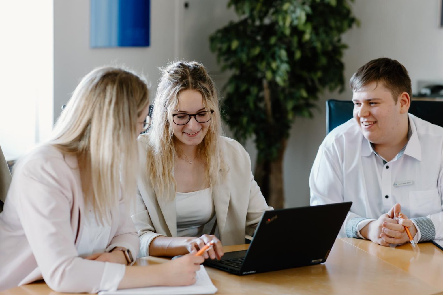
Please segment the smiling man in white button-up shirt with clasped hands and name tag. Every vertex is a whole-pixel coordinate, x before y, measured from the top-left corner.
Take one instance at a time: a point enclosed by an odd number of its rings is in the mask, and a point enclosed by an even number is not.
[[[350,87],[354,118],[319,147],[311,205],[353,202],[341,237],[400,244],[407,226],[415,242],[442,239],[443,128],[408,114],[411,79],[398,61],[369,61]]]

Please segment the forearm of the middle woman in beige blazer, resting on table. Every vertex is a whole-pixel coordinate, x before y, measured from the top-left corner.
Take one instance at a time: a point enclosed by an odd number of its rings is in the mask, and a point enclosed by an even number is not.
[[[150,256],[176,256],[189,253],[186,245],[192,237],[164,237],[159,236],[149,245]]]

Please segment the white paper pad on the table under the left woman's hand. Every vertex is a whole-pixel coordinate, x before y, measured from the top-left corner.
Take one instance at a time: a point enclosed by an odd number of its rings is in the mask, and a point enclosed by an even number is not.
[[[194,295],[214,294],[218,291],[214,284],[212,284],[203,265],[200,265],[200,270],[196,272],[195,278],[197,281],[190,286],[120,289],[117,291],[100,291],[98,295]]]

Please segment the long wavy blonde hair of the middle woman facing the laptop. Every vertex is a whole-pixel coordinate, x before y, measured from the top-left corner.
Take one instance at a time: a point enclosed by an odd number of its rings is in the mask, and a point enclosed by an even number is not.
[[[175,159],[181,150],[174,144],[172,115],[178,109],[180,92],[196,90],[203,96],[206,110],[214,110],[209,128],[198,145],[198,157],[206,164],[205,180],[214,188],[225,177],[227,166],[223,160],[221,116],[218,94],[206,68],[195,61],[177,61],[160,69],[161,78],[153,103],[152,125],[139,140],[148,144],[146,176],[156,191],[160,202],[175,199]]]

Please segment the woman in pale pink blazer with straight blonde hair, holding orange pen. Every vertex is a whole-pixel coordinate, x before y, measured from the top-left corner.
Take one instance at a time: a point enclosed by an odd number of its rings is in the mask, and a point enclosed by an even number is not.
[[[134,73],[102,67],[82,79],[51,141],[14,169],[0,213],[0,290],[41,279],[62,292],[195,282],[204,259],[194,255],[128,267],[140,242],[125,201],[148,104]]]

